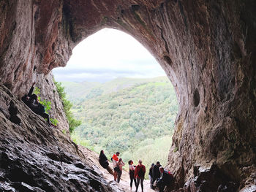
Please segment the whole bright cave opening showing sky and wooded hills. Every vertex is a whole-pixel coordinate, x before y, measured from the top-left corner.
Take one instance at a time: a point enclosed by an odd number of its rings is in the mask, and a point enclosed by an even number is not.
[[[145,47],[124,32],[104,28],[80,42],[63,69],[53,69],[82,121],[72,133],[80,145],[127,163],[167,165],[178,112],[176,93]],[[148,174],[146,174],[148,175]]]

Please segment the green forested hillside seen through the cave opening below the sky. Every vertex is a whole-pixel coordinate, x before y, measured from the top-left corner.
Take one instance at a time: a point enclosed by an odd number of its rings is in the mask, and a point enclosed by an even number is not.
[[[178,111],[176,94],[167,77],[118,78],[97,82],[63,82],[73,102],[72,112],[82,120],[72,133],[75,142],[110,158],[121,152],[125,162],[165,166]]]

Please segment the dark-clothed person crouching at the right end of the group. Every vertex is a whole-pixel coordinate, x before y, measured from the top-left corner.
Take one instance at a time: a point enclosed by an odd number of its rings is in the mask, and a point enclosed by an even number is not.
[[[165,186],[170,185],[173,180],[173,174],[165,171],[164,167],[159,167],[160,178],[157,179],[157,188],[159,188],[159,192],[163,192],[165,190]]]

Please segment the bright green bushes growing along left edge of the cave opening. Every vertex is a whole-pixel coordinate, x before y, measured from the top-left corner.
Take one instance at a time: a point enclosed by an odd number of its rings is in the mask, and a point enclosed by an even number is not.
[[[56,85],[57,91],[59,93],[59,97],[62,101],[64,112],[67,116],[67,121],[69,122],[69,132],[72,133],[74,129],[80,126],[81,121],[76,120],[74,115],[71,112],[72,103],[66,99],[66,93],[64,92],[64,86],[61,85],[61,82],[56,82],[53,80],[54,84]]]

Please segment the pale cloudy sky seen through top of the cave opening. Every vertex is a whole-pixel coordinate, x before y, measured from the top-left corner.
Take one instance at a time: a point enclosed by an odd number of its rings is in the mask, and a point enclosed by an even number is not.
[[[80,42],[67,66],[53,69],[59,82],[107,82],[117,77],[165,76],[151,53],[129,34],[103,28]]]

